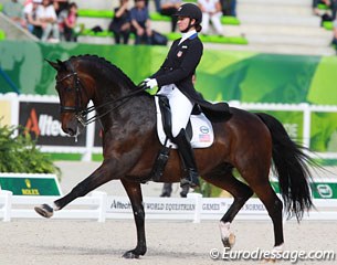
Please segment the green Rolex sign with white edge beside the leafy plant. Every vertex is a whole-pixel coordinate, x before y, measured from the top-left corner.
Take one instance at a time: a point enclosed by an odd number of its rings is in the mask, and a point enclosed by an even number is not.
[[[0,188],[13,195],[62,195],[55,174],[0,173]]]

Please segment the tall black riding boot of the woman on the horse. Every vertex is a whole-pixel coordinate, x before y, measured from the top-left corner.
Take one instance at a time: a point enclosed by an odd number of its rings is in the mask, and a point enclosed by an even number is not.
[[[175,144],[178,146],[178,151],[183,165],[185,177],[180,180],[180,187],[196,188],[200,186],[199,174],[197,170],[194,152],[191,147],[185,129],[175,138]]]

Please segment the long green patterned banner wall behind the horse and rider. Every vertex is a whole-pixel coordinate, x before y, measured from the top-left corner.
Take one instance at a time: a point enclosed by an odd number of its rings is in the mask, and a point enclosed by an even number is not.
[[[0,42],[2,70],[22,94],[40,95],[56,95],[55,70],[44,59],[65,61],[73,55],[95,54],[138,84],[158,71],[167,52],[166,46]],[[333,96],[336,71],[336,56],[204,50],[196,86],[209,100],[337,105]],[[11,91],[3,78],[0,87],[1,93]]]

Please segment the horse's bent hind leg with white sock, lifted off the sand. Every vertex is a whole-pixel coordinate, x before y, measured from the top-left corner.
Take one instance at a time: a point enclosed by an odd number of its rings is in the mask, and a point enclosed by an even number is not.
[[[224,171],[227,171],[224,173]],[[221,241],[224,247],[232,247],[235,242],[235,236],[230,231],[230,225],[234,220],[235,215],[240,211],[240,209],[244,205],[244,203],[253,195],[253,191],[250,187],[239,181],[233,174],[232,169],[228,170],[227,168],[223,171],[217,171],[209,173],[204,177],[204,179],[230,192],[234,201],[227,213],[220,220],[220,233]]]

